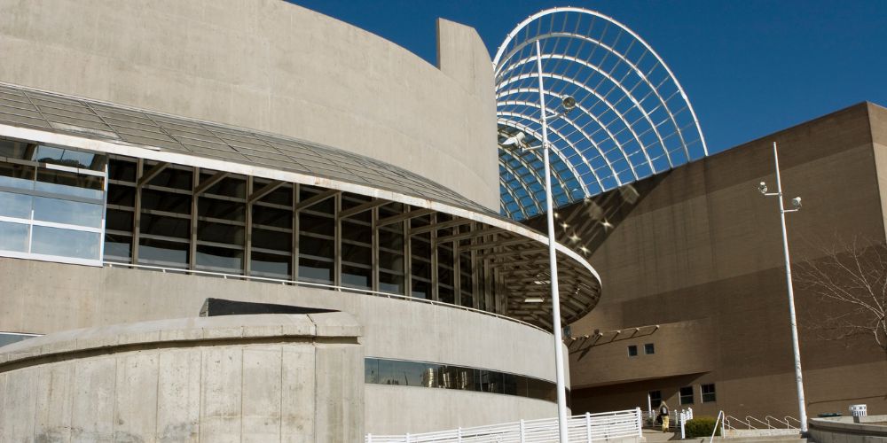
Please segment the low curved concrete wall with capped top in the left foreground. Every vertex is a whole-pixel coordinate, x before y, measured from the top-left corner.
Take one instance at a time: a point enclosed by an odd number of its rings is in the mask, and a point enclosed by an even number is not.
[[[4,347],[0,441],[361,441],[347,314],[71,330]]]

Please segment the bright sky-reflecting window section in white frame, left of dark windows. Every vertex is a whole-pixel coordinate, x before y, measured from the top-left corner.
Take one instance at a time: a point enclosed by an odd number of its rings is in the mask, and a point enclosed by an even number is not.
[[[0,255],[101,264],[106,157],[0,139]]]

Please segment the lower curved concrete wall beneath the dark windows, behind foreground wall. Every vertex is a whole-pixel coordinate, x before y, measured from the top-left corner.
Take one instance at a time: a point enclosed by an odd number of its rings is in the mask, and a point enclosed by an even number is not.
[[[38,280],[41,284],[35,284]],[[457,308],[282,284],[34,260],[0,259],[0,281],[6,288],[0,293],[0,330],[51,333],[188,317],[197,315],[208,297],[239,299],[327,307],[354,315],[364,328],[360,341],[367,357],[555,379],[551,334]],[[556,404],[543,400],[410,386],[367,385],[366,404],[365,430],[373,433],[436,431],[557,414]]]

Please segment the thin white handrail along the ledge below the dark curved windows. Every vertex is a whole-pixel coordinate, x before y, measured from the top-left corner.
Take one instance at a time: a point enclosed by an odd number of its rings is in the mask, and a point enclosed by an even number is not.
[[[443,301],[436,301],[436,300],[429,300],[429,299],[417,299],[415,297],[410,297],[410,296],[407,296],[404,294],[395,294],[395,293],[391,293],[391,292],[372,291],[369,289],[352,288],[349,286],[341,286],[341,285],[335,285],[335,284],[302,282],[302,281],[298,281],[298,280],[284,280],[281,278],[271,278],[271,277],[263,277],[263,276],[246,276],[246,275],[242,275],[242,274],[226,274],[224,272],[203,271],[200,269],[169,268],[169,267],[162,267],[162,266],[139,265],[139,264],[135,264],[135,263],[122,263],[119,261],[102,261],[102,264],[108,268],[153,269],[153,270],[159,270],[163,273],[170,272],[170,273],[175,273],[175,274],[186,274],[186,275],[192,274],[192,275],[197,275],[197,276],[217,276],[217,277],[222,277],[224,279],[231,278],[234,280],[246,280],[246,281],[256,281],[256,282],[265,282],[265,283],[274,283],[274,284],[290,284],[293,286],[308,286],[308,287],[315,287],[315,288],[322,288],[322,289],[330,289],[330,290],[340,291],[340,292],[341,291],[359,292],[359,293],[364,293],[367,295],[374,295],[376,297],[385,297],[387,299],[404,299],[407,301],[428,303],[428,304],[434,305],[434,306],[454,307],[456,309],[461,309],[463,311],[469,311],[469,312],[474,312],[474,313],[483,314],[483,315],[491,315],[493,317],[496,317],[496,318],[499,318],[502,320],[507,320],[509,322],[520,323],[524,326],[530,326],[530,328],[546,332],[547,334],[551,333],[547,330],[544,330],[544,329],[538,327],[535,324],[527,323],[522,320],[518,320],[516,318],[508,317],[506,315],[500,315],[500,314],[492,313],[489,311],[484,311],[482,309],[476,309],[474,307],[464,307],[464,306],[459,306],[459,305],[453,305],[451,303],[446,303]]]

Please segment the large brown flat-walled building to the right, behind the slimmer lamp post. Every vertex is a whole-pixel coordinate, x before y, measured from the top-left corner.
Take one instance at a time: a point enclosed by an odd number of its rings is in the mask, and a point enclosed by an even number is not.
[[[561,210],[564,237],[582,237],[607,276],[600,305],[571,325],[574,413],[646,409],[659,392],[697,414],[797,417],[778,204],[757,191],[775,188],[773,142],[787,204],[804,197],[787,214],[793,262],[836,238],[884,243],[887,109],[870,103]],[[808,415],[887,412],[883,351],[824,341],[811,313],[829,307],[796,293]]]

